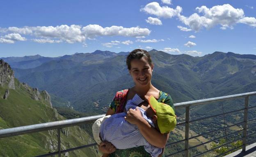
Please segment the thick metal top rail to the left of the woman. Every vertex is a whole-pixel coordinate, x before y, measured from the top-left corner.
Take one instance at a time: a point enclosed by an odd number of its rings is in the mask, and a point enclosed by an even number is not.
[[[62,121],[56,121],[56,122],[48,122],[48,123],[34,124],[29,126],[20,126],[16,128],[2,129],[0,130],[0,138],[22,135],[26,133],[35,133],[39,131],[51,130],[56,128],[65,128],[69,126],[81,125],[87,122],[94,121],[104,116],[105,115],[95,115],[90,117],[82,117],[82,118],[68,119],[68,120],[62,120]]]

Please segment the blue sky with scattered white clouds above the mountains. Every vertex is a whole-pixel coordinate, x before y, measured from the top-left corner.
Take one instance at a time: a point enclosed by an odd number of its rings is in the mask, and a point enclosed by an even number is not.
[[[256,55],[256,1],[0,1],[0,57],[138,48]]]

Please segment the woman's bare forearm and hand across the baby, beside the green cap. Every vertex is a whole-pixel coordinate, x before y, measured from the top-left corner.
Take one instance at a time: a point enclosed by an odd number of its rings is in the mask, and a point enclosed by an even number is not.
[[[130,109],[127,112],[126,121],[138,126],[144,138],[153,146],[164,148],[169,138],[169,133],[161,134],[152,127],[141,115],[139,108]]]

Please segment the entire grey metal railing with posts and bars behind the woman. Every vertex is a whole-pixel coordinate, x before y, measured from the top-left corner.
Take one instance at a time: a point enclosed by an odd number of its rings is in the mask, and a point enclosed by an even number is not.
[[[240,139],[242,139],[242,151],[245,151],[246,144],[256,141],[255,139],[252,140],[251,142],[246,141],[246,137],[250,136],[250,135],[247,135],[247,122],[256,119],[256,117],[255,117],[253,119],[247,120],[248,109],[256,107],[256,106],[248,107],[249,96],[252,96],[252,95],[256,95],[256,92],[228,95],[228,96],[222,96],[222,97],[214,97],[214,98],[209,98],[209,99],[195,100],[195,101],[190,101],[190,102],[181,102],[181,103],[174,104],[175,108],[185,107],[185,122],[180,122],[180,123],[177,124],[177,126],[185,124],[185,139],[173,142],[171,144],[167,144],[166,146],[170,146],[172,144],[177,144],[179,142],[185,142],[185,149],[184,150],[179,150],[178,152],[172,153],[170,155],[166,155],[166,157],[169,157],[169,156],[172,156],[172,155],[175,155],[175,154],[178,154],[178,153],[183,153],[183,152],[185,153],[185,157],[188,157],[189,156],[189,150],[191,150],[192,148],[207,144],[209,142],[216,141],[217,139],[227,137],[229,135],[238,133],[240,131],[243,131],[243,134],[242,134],[243,136],[241,138],[235,139],[231,142],[227,142],[225,144],[222,144],[221,146],[217,146],[217,147],[212,148],[210,150],[206,150],[205,152],[194,155],[193,157],[208,153],[212,150],[215,150],[217,148],[220,148],[220,147],[222,147],[224,145],[227,145],[227,144],[230,144],[232,142],[238,141]],[[218,114],[218,115],[213,115],[213,116],[209,116],[209,117],[203,117],[203,118],[196,119],[196,120],[190,120],[190,107],[191,106],[201,105],[201,104],[208,104],[208,103],[219,102],[219,101],[224,101],[224,100],[232,100],[232,99],[236,99],[236,98],[245,98],[245,108],[242,108],[242,109],[239,109],[239,110],[236,110],[236,111],[230,111],[230,112],[227,112],[227,113]],[[233,124],[233,125],[230,125],[230,126],[224,126],[223,128],[219,128],[217,130],[212,130],[212,131],[209,131],[207,133],[203,133],[203,134],[199,134],[199,135],[196,135],[196,136],[189,137],[189,124],[191,122],[196,122],[196,121],[199,121],[199,120],[202,120],[202,119],[217,117],[219,115],[225,115],[225,114],[229,114],[229,113],[233,113],[233,112],[237,112],[237,111],[242,111],[242,110],[244,110],[243,122]],[[16,127],[16,128],[2,129],[2,130],[0,130],[0,138],[11,137],[11,136],[16,136],[16,135],[23,135],[23,134],[26,134],[26,133],[36,133],[36,132],[45,131],[45,130],[57,129],[58,151],[53,152],[53,153],[44,154],[44,155],[39,155],[37,157],[46,157],[46,156],[50,156],[50,155],[58,155],[59,157],[61,157],[62,153],[66,153],[66,152],[69,152],[69,151],[78,150],[78,149],[81,149],[81,148],[91,147],[91,146],[96,145],[96,143],[94,143],[94,144],[87,144],[87,145],[84,145],[84,146],[79,146],[79,147],[70,148],[70,149],[66,149],[66,150],[61,150],[61,147],[60,147],[60,144],[61,144],[61,142],[60,142],[60,138],[61,138],[60,137],[60,129],[61,128],[65,128],[65,127],[69,127],[69,126],[78,126],[78,125],[86,124],[88,122],[94,122],[96,119],[101,118],[103,116],[104,115],[96,115],[96,116],[90,116],[90,117],[82,117],[82,118],[76,118],[76,119],[62,120],[62,121],[57,121],[57,122],[48,122],[48,123],[34,124],[34,125],[29,125],[29,126],[21,126],[21,127]],[[201,144],[196,145],[196,146],[189,147],[189,140],[190,139],[194,139],[194,138],[197,138],[197,137],[209,134],[209,133],[216,132],[218,130],[223,130],[223,129],[226,129],[226,128],[229,128],[229,127],[232,127],[232,126],[236,126],[238,124],[243,124],[243,129],[242,130],[236,131],[236,132],[231,133],[229,135],[224,135],[222,137],[218,137],[216,139],[212,139],[208,142],[204,142],[204,143],[201,143]],[[253,135],[253,134],[255,134],[255,133],[252,133],[251,135]],[[241,147],[241,146],[238,146],[237,148],[239,148],[239,147]],[[217,155],[216,157],[222,156],[225,153],[230,152],[232,150],[235,150],[237,148],[233,148],[231,150],[228,150],[228,151],[226,151],[226,152],[224,152],[220,155]]]

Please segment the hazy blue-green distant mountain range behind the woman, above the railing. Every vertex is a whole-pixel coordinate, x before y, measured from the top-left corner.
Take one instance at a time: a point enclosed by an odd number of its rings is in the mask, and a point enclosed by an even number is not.
[[[192,57],[170,55],[154,49],[149,52],[155,65],[152,83],[169,93],[174,102],[256,89],[256,55],[214,52],[203,57]],[[52,94],[53,105],[69,101],[76,110],[105,113],[116,91],[133,86],[126,68],[127,54],[97,50],[94,53],[46,57],[48,61],[44,60],[37,67],[14,68],[14,71],[22,82]],[[20,62],[12,60],[10,64],[15,63],[16,66],[26,61],[29,65],[42,57],[35,58],[19,58]],[[8,58],[9,61],[11,59]],[[55,101],[55,96],[61,99]]]

